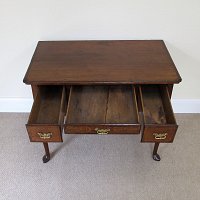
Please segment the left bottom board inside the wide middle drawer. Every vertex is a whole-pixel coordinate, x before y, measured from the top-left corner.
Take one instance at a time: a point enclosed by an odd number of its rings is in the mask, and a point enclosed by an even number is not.
[[[72,87],[67,123],[105,123],[107,99],[107,86]]]

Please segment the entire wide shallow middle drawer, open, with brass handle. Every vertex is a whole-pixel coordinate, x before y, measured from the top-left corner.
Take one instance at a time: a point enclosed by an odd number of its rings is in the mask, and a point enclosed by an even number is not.
[[[139,134],[135,88],[72,86],[64,128],[72,134]]]

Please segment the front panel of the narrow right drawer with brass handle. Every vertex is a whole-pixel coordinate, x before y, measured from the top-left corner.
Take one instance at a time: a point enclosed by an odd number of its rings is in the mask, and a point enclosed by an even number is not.
[[[177,128],[177,125],[145,125],[142,142],[173,142]]]

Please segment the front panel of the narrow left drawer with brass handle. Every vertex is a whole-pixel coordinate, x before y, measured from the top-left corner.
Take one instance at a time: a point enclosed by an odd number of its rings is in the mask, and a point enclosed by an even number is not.
[[[31,142],[62,142],[60,126],[26,125]]]

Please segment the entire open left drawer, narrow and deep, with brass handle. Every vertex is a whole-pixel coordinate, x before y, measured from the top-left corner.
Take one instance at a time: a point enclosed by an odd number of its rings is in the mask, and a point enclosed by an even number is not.
[[[39,86],[26,128],[31,142],[62,142],[65,87]]]

